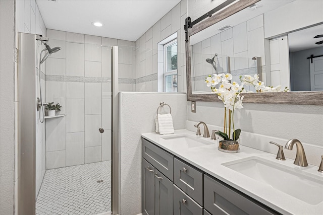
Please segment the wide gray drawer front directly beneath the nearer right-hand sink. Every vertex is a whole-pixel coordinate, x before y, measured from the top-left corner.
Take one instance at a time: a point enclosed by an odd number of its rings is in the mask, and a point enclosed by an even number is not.
[[[212,214],[279,214],[207,175],[204,175],[204,207]]]

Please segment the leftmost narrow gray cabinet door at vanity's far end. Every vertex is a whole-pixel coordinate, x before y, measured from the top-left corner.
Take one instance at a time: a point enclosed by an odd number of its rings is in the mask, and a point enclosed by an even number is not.
[[[141,159],[141,205],[142,214],[155,214],[155,168],[145,159]]]

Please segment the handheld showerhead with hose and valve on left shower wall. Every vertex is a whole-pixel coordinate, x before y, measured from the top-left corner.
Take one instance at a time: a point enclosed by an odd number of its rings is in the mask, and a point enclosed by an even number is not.
[[[39,39],[41,40],[41,39]],[[42,95],[41,95],[41,81],[40,81],[40,65],[41,63],[43,63],[47,57],[49,55],[51,55],[52,53],[55,53],[55,52],[58,52],[59,50],[61,50],[61,47],[54,47],[54,48],[50,48],[49,45],[47,45],[45,42],[44,42],[44,45],[46,48],[44,48],[40,54],[39,54],[39,64],[38,64],[38,80],[39,80],[39,97],[37,98],[37,111],[39,111],[39,121],[41,123],[44,122],[44,118],[45,118],[45,112],[44,112],[44,105],[47,105],[47,103],[44,103],[42,101]],[[47,51],[45,53],[45,55],[41,58],[41,54],[43,51]],[[41,117],[42,116],[42,117]]]

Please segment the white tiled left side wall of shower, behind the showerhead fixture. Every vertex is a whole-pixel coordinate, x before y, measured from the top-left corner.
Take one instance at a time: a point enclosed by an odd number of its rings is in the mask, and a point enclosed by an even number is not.
[[[36,4],[35,0],[19,0],[16,2],[16,41],[18,41],[18,32],[23,33],[31,33],[31,34],[39,34],[46,36],[46,27],[42,20],[42,17],[40,15],[38,6]],[[16,42],[16,46],[17,46]],[[38,67],[38,60],[39,60],[39,54],[40,51],[44,49],[44,46],[41,45],[41,42],[37,42],[36,47],[36,62],[35,62],[35,69],[37,71]],[[46,95],[46,88],[45,88],[45,80],[44,80],[44,74],[46,74],[44,63],[42,64],[41,71],[43,75],[41,76],[41,85],[42,85],[42,95],[43,99],[45,101],[45,95]],[[18,71],[15,71],[16,73],[16,92],[18,89],[18,83],[17,83],[17,73]],[[37,86],[37,95],[36,97],[39,97],[39,81],[36,80]],[[16,96],[17,97],[17,96]],[[16,109],[18,107],[18,99],[16,98]],[[36,111],[36,110],[35,110]],[[16,117],[17,116],[16,112]],[[38,191],[40,189],[40,185],[42,182],[42,179],[45,174],[45,122],[40,123],[39,122],[39,113],[37,112],[37,118],[36,118],[36,196],[38,194]],[[18,127],[16,126],[16,133]],[[18,139],[18,138],[16,138]],[[18,150],[18,142],[16,141],[16,150]],[[16,151],[18,153],[18,151]],[[16,154],[17,155],[17,154]],[[16,159],[18,156],[16,156]],[[16,170],[18,171],[18,162],[16,162]],[[18,172],[16,171],[16,176],[18,177]]]

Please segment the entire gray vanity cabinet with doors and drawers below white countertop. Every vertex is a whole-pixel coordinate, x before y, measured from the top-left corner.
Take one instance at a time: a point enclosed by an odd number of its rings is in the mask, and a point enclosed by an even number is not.
[[[142,214],[280,214],[174,157],[142,138]]]

